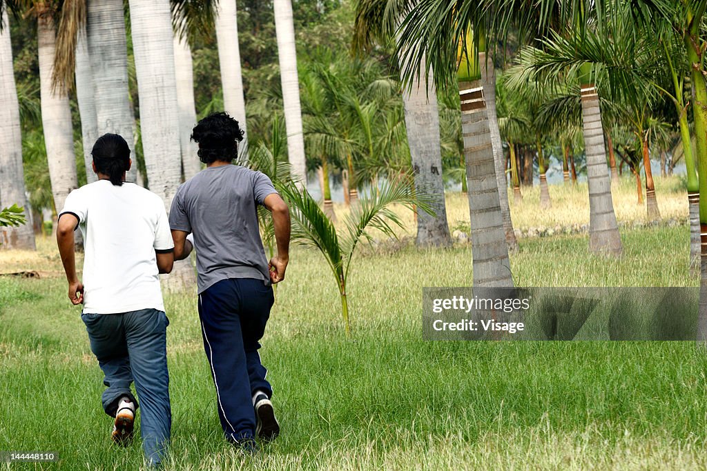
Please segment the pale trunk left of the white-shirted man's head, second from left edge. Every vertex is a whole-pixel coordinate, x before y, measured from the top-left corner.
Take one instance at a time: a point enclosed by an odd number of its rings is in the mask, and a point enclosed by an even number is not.
[[[57,213],[64,208],[66,196],[78,187],[74,156],[74,131],[71,129],[71,107],[66,93],[52,90],[52,71],[56,50],[54,19],[48,12],[37,16],[37,48],[40,66],[40,94],[42,97],[42,126],[44,128],[49,179]]]

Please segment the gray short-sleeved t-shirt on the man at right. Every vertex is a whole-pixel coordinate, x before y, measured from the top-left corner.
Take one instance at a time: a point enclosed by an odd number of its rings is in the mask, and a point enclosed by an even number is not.
[[[207,167],[179,187],[170,227],[194,234],[199,294],[226,278],[269,285],[257,205],[271,193],[275,187],[265,174],[237,165]]]

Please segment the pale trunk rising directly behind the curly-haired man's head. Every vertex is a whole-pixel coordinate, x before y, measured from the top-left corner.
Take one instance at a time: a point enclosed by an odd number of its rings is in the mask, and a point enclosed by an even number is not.
[[[243,92],[243,74],[240,68],[238,16],[236,13],[235,0],[221,0],[218,2],[216,43],[218,44],[218,65],[221,67],[223,108],[230,116],[238,120],[240,129],[245,132],[245,95]],[[246,143],[247,134],[239,147],[247,148]]]

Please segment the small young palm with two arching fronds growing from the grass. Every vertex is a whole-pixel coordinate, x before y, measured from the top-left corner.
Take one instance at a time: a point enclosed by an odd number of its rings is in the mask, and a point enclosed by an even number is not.
[[[416,195],[416,192],[407,184],[407,180],[401,178],[388,181],[378,191],[371,191],[369,196],[361,198],[358,205],[351,208],[351,213],[346,217],[342,234],[337,232],[306,189],[298,190],[293,186],[279,187],[280,193],[284,195],[291,208],[293,241],[318,249],[329,263],[339,288],[341,316],[344,318],[346,335],[351,331],[346,281],[349,278],[351,261],[359,240],[361,238],[372,240],[368,229],[378,229],[387,237],[397,237],[394,227],[402,228],[403,225],[399,216],[390,209],[392,205],[403,205],[409,210],[414,210],[414,205],[417,205],[423,210],[429,210],[426,198]]]

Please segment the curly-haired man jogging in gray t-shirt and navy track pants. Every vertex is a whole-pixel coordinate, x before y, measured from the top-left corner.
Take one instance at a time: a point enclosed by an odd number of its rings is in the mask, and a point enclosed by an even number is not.
[[[255,436],[271,440],[280,430],[257,350],[274,302],[271,283],[284,280],[289,261],[289,210],[266,175],[231,164],[243,139],[238,121],[211,114],[192,139],[206,169],[182,184],[172,202],[175,259],[197,251],[201,336],[218,417],[228,441],[255,450]],[[257,205],[272,213],[277,256],[269,263]]]

